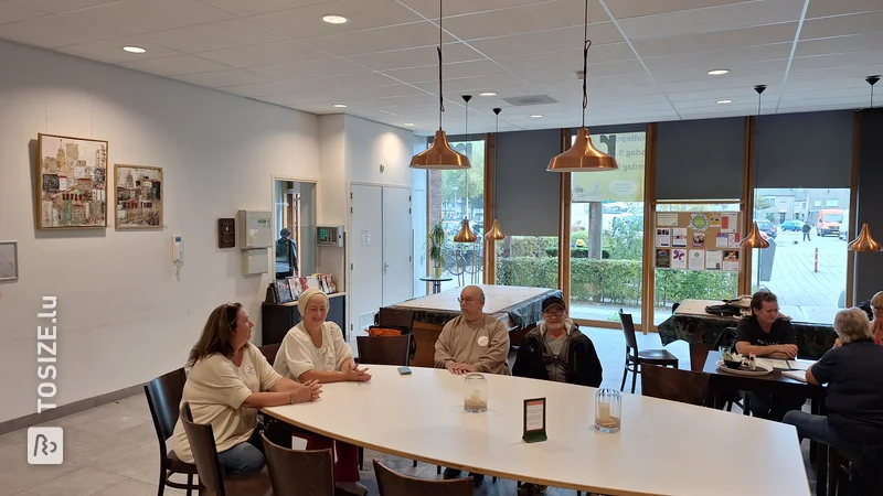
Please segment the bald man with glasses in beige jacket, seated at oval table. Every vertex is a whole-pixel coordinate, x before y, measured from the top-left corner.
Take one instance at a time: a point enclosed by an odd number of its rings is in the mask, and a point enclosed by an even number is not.
[[[460,291],[460,316],[445,324],[435,342],[435,366],[451,374],[512,375],[509,370],[509,332],[485,313],[485,292],[477,285]]]

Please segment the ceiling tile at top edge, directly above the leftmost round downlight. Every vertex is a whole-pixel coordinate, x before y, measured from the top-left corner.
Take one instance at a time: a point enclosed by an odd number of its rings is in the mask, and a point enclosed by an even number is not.
[[[121,34],[142,34],[233,18],[230,12],[196,0],[121,0],[61,15]]]

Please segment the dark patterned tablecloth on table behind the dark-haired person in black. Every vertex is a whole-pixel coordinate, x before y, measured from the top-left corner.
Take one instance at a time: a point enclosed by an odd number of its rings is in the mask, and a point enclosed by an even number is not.
[[[726,327],[735,327],[735,319],[712,315],[672,315],[659,324],[663,345],[683,339],[690,344],[713,346]],[[837,334],[832,325],[791,322],[797,333],[797,353],[800,357],[821,358],[834,345]]]

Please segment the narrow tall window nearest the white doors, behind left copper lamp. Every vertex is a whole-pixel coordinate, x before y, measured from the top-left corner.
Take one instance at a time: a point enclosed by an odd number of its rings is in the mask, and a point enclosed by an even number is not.
[[[466,171],[429,171],[429,224],[445,231],[442,247],[442,290],[481,283],[485,236],[485,140],[449,138],[450,145],[469,158]],[[478,237],[474,244],[454,242],[464,218]]]

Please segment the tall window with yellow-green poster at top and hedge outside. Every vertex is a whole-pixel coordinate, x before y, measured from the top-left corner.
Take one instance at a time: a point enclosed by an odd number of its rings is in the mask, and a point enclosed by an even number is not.
[[[592,134],[592,142],[619,170],[572,174],[570,314],[619,322],[623,309],[640,323],[646,132]]]

